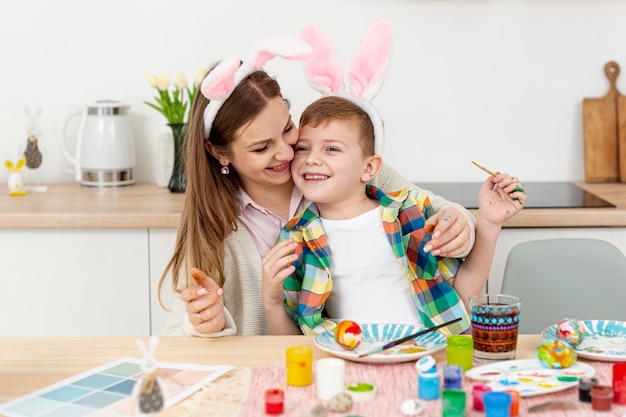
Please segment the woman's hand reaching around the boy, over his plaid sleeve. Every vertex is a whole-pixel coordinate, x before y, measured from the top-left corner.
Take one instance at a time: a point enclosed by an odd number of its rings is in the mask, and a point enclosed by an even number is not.
[[[450,207],[435,213],[425,227],[433,236],[424,247],[426,252],[455,258],[469,249],[471,226],[459,209]]]

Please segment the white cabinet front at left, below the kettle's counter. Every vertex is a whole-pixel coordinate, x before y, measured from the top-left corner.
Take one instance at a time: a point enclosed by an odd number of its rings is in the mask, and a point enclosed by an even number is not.
[[[147,229],[2,229],[0,248],[0,336],[150,334]]]

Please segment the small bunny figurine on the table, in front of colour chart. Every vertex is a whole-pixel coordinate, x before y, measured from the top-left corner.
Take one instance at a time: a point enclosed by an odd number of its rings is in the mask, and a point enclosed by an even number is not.
[[[150,337],[150,344],[146,347],[141,339],[137,339],[137,347],[143,354],[141,359],[141,369],[143,377],[135,383],[132,398],[137,399],[139,412],[143,415],[151,415],[163,409],[165,403],[164,393],[159,384],[157,361],[154,351],[159,344],[159,338]]]

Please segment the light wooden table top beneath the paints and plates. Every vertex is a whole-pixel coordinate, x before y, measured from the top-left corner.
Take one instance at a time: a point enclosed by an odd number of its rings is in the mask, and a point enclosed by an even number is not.
[[[517,359],[535,358],[540,340],[540,335],[520,335]],[[135,342],[135,337],[0,338],[0,403],[121,357],[137,357],[139,351]],[[156,357],[162,362],[205,365],[282,365],[285,363],[285,349],[294,345],[312,347],[314,361],[330,356],[316,348],[314,338],[309,336],[236,336],[215,339],[161,337]],[[438,362],[445,363],[446,351],[442,349],[433,356]],[[572,390],[569,392],[570,397],[578,395]],[[468,401],[471,399],[468,398]],[[469,404],[468,410],[471,410],[471,402]],[[184,402],[161,414],[168,417],[181,415],[177,407],[183,405]],[[613,412],[622,415],[626,406],[614,405]]]

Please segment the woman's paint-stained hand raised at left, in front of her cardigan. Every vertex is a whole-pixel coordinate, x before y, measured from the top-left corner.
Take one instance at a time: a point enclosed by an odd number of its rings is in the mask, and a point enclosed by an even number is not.
[[[180,293],[189,321],[198,333],[215,333],[224,329],[224,290],[204,272],[191,269],[191,276],[200,285]]]

